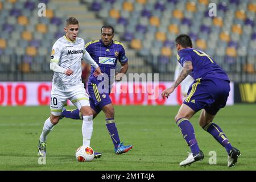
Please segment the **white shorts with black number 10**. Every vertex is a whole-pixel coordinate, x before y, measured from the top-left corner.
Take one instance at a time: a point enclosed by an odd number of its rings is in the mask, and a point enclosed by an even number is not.
[[[85,92],[84,84],[64,85],[52,83],[51,91],[51,114],[61,115],[62,109],[70,100],[77,109],[82,106],[90,106],[89,96]]]

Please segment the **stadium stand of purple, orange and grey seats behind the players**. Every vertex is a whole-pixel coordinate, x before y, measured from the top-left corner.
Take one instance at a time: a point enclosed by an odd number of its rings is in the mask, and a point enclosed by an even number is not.
[[[209,16],[210,2],[216,3],[217,16]],[[46,4],[45,17],[38,16],[39,3]],[[49,72],[48,55],[53,42],[63,36],[68,16],[79,19],[79,36],[86,42],[100,38],[103,24],[113,25],[115,39],[125,44],[130,57],[129,72],[157,72],[164,73],[160,80],[173,78],[174,40],[179,34],[191,36],[194,47],[217,59],[232,80],[241,70],[255,73],[256,69],[255,1],[7,0],[0,1],[0,10],[0,53],[15,52],[19,60],[8,63],[15,63],[21,72],[31,73],[34,80],[51,80],[49,74],[35,75],[40,69]],[[10,70],[1,69],[0,75],[4,71]]]

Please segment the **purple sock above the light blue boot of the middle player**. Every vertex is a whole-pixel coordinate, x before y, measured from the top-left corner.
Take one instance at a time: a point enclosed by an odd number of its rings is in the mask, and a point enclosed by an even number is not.
[[[115,148],[117,148],[118,144],[120,143],[120,139],[119,139],[117,127],[115,126],[114,118],[106,119],[106,128],[109,131],[109,135],[112,139],[112,142]]]

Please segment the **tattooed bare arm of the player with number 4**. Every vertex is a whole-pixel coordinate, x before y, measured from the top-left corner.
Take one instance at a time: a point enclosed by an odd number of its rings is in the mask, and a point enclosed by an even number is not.
[[[167,88],[165,90],[163,90],[162,92],[162,97],[163,98],[168,98],[168,96],[174,92],[175,88],[181,83],[181,81],[183,81],[189,73],[191,73],[193,70],[193,65],[191,61],[185,61],[185,63],[183,64],[183,69],[180,72],[179,77],[177,77],[176,81],[174,82],[174,84],[172,84],[172,86],[170,88]]]

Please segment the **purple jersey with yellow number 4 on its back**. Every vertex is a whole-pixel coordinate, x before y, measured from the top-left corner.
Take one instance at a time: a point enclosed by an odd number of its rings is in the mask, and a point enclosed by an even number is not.
[[[228,80],[225,71],[206,53],[195,48],[184,48],[177,53],[177,60],[182,65],[185,61],[191,61],[193,70],[189,73],[196,80],[197,78],[219,78]]]

